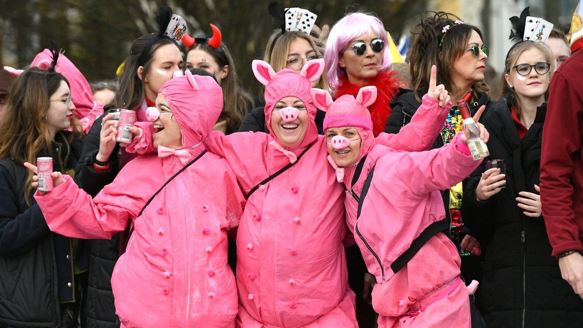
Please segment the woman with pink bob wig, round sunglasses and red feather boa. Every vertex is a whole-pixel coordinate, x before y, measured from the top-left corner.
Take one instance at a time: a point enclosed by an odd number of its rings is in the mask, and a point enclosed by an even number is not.
[[[370,107],[374,135],[385,127],[389,102],[398,92],[399,81],[391,72],[387,30],[373,13],[355,12],[333,25],[324,52],[328,83],[333,98],[356,96],[363,86],[376,86],[377,101]]]

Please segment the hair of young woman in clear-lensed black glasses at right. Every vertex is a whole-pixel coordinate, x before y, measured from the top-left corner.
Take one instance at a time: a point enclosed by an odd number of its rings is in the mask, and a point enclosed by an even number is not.
[[[512,67],[514,67],[517,64],[518,57],[520,57],[520,55],[522,53],[524,53],[525,51],[531,50],[533,48],[540,50],[540,52],[543,53],[543,55],[545,56],[547,63],[549,63],[551,65],[551,67],[549,68],[549,72],[548,72],[549,81],[550,81],[551,77],[553,76],[553,69],[552,69],[553,55],[552,55],[549,47],[545,46],[545,44],[538,43],[535,41],[520,41],[520,42],[514,44],[514,46],[512,46],[510,48],[510,50],[508,51],[508,54],[506,55],[506,60],[504,61],[504,73],[502,74],[502,78],[501,78],[501,83],[503,85],[502,96],[506,99],[510,108],[512,108],[512,107],[516,108],[518,116],[520,116],[520,111],[521,111],[520,99],[518,98],[518,94],[517,94],[516,90],[514,90],[513,88],[510,88],[510,86],[508,86],[508,82],[506,82],[505,76],[506,76],[506,74],[510,74]],[[532,68],[532,69],[534,69],[534,68]],[[549,89],[547,89],[545,92],[545,100],[548,97],[549,97]]]

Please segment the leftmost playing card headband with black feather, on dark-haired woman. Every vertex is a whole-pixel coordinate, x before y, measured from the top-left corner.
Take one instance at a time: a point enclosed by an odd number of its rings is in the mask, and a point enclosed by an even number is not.
[[[164,38],[178,41],[182,39],[182,36],[185,35],[187,30],[184,18],[182,18],[180,15],[173,14],[172,9],[166,6],[158,7],[158,13],[156,15],[156,26],[158,28],[158,32],[154,34],[152,39],[146,43],[146,46],[143,48],[142,53],[140,54],[140,66],[146,64],[147,54],[150,53],[150,49],[152,49],[154,44]]]

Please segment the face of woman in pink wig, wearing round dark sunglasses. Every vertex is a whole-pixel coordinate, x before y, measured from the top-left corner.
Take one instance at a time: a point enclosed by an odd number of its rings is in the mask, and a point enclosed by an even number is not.
[[[356,39],[350,41],[346,49],[338,58],[338,65],[344,68],[348,81],[353,84],[366,85],[378,74],[378,68],[382,64],[382,52],[387,51],[387,45],[380,52],[375,52],[370,46],[370,43],[380,39],[375,32],[365,33]],[[357,55],[353,46],[356,43],[363,42],[366,44],[364,54]]]

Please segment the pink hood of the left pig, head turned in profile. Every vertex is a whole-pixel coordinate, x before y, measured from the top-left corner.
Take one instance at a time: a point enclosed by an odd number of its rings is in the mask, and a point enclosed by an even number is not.
[[[192,75],[168,80],[159,93],[166,97],[182,132],[181,149],[204,146],[223,109],[223,90],[211,76]],[[197,147],[198,148],[198,147]]]

